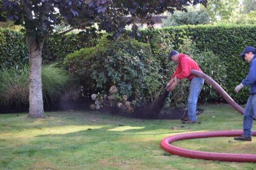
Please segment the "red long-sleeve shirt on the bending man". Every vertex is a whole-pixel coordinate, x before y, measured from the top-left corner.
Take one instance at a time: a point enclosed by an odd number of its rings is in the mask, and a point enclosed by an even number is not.
[[[178,79],[187,78],[190,81],[192,78],[196,77],[194,75],[190,75],[191,69],[203,72],[195,60],[191,59],[185,54],[180,53],[178,59],[178,66],[172,78],[176,76]]]

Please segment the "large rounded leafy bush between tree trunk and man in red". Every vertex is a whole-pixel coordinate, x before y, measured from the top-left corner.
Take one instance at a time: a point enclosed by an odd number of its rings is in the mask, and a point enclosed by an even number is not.
[[[95,47],[69,54],[65,64],[89,93],[106,93],[115,85],[121,95],[148,101],[155,96],[152,90],[161,85],[150,46],[134,39],[103,37]]]

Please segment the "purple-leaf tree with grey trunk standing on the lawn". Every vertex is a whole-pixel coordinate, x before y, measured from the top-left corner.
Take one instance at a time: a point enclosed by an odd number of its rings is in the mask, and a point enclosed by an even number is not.
[[[98,30],[119,36],[135,17],[152,24],[151,16],[164,11],[185,10],[188,5],[203,4],[207,0],[2,0],[0,21],[12,20],[22,25],[26,33],[30,61],[29,116],[44,117],[41,83],[41,51],[54,26],[69,25],[85,31],[98,25]],[[123,16],[130,15],[129,19]],[[72,29],[68,30],[71,31]],[[136,29],[134,29],[136,30]],[[65,32],[66,33],[66,32]]]

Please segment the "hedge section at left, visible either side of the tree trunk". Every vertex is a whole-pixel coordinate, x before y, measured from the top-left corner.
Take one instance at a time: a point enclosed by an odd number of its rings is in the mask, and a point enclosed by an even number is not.
[[[42,49],[42,62],[62,61],[66,55],[83,47],[96,45],[101,34],[66,34],[50,36]],[[0,67],[22,65],[28,63],[27,41],[23,33],[0,28]]]

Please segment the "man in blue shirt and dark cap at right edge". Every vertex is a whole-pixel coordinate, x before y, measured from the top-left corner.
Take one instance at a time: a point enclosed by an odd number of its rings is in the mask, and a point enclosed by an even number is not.
[[[240,57],[250,63],[247,77],[240,83],[234,91],[238,93],[244,86],[250,86],[250,96],[244,110],[243,135],[235,137],[235,140],[251,141],[251,128],[253,116],[256,115],[256,52],[253,46],[247,46]]]

